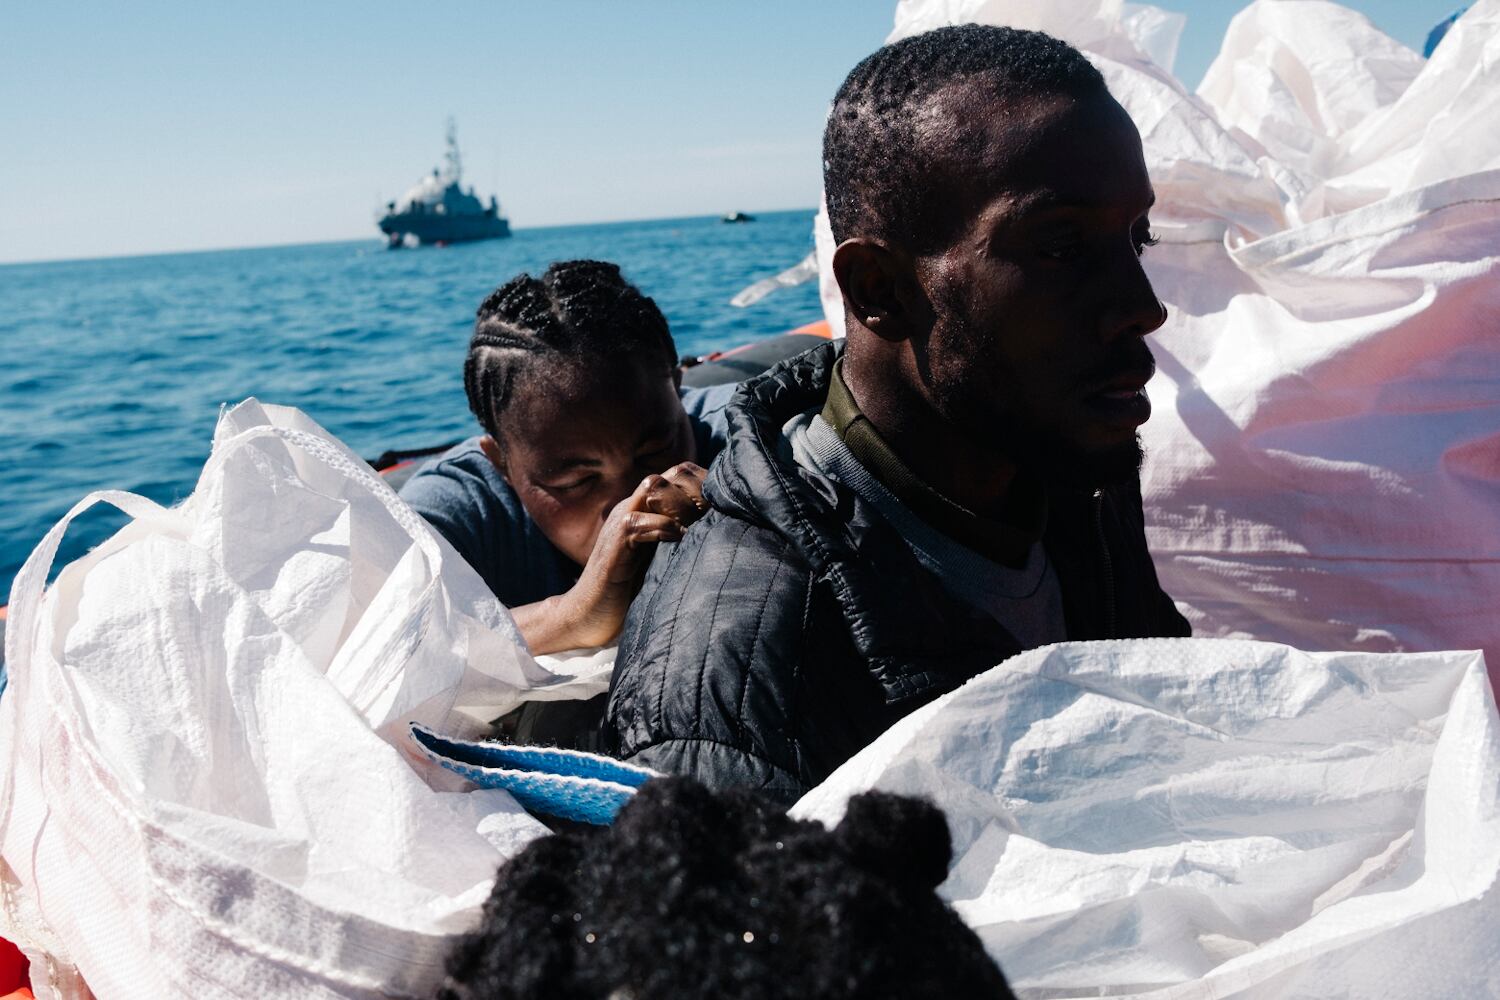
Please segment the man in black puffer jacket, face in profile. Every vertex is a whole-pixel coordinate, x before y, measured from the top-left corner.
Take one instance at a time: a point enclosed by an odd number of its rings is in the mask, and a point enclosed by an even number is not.
[[[1011,28],[882,48],[834,100],[824,187],[848,345],[730,402],[603,733],[782,801],[1022,649],[1188,634],[1142,523],[1154,192],[1100,73]]]

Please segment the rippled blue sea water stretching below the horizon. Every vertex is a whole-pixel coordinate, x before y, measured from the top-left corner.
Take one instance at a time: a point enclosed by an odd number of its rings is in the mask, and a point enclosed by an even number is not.
[[[684,354],[818,319],[813,283],[729,306],[812,249],[812,217],[520,229],[394,253],[372,240],[0,267],[0,603],[90,490],[162,504],[192,492],[220,403],[298,406],[368,457],[472,433],[462,366],[474,309],[516,271],[616,261]],[[99,508],[75,522],[58,565],[120,523]]]

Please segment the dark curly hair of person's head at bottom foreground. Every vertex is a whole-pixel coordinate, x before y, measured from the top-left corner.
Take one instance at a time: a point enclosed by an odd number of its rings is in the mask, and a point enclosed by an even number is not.
[[[612,828],[500,870],[441,1000],[1011,999],[933,891],[942,813],[870,792],[834,831],[747,792],[646,783]]]

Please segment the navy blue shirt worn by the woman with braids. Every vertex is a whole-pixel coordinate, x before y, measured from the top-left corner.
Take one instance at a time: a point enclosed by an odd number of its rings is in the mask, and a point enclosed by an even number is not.
[[[680,390],[702,466],[724,445],[724,403],[736,388]],[[400,489],[400,498],[458,549],[506,607],[562,594],[578,582],[582,567],[548,541],[478,441],[470,438],[428,462]]]

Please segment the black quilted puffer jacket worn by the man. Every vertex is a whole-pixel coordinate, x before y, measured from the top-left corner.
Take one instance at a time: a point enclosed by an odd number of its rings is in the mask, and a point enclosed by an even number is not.
[[[820,406],[837,345],[744,384],[705,498],[630,609],[604,747],[784,802],[896,720],[1020,652],[951,597],[860,496],[796,466],[782,427]],[[1186,636],[1146,552],[1140,487],[1048,492],[1042,540],[1070,639]]]

